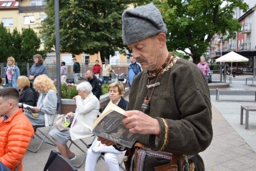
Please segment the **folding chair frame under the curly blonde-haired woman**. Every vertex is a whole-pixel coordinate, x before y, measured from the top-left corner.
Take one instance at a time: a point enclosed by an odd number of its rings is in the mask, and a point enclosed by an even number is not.
[[[45,127],[45,125],[33,126],[33,128],[34,128],[34,130],[35,130],[35,135],[36,135],[37,137],[39,137],[42,141],[41,141],[40,145],[38,146],[38,148],[37,148],[36,150],[27,149],[28,151],[31,151],[31,152],[33,152],[33,153],[38,152],[38,150],[40,149],[40,147],[42,146],[42,144],[43,144],[44,142],[45,142],[45,143],[48,143],[48,144],[50,144],[50,145],[56,146],[56,144],[54,143],[54,141],[52,141],[52,139],[49,138],[47,135],[48,135],[48,133],[50,132],[50,129],[51,129],[53,123],[54,123],[54,120],[55,120],[55,117],[56,117],[56,115],[57,115],[57,111],[58,111],[59,105],[60,105],[60,103],[57,103],[57,109],[56,109],[56,112],[55,112],[54,115],[53,115],[54,119],[53,119],[52,123],[48,126],[47,131],[46,131],[45,133],[44,133],[43,131],[41,131],[40,129],[38,129],[38,128],[41,128],[41,127]],[[41,135],[38,134],[38,133],[36,133],[36,131],[39,131],[39,132],[41,133]],[[46,139],[48,139],[50,142],[49,142],[49,141],[46,141]]]

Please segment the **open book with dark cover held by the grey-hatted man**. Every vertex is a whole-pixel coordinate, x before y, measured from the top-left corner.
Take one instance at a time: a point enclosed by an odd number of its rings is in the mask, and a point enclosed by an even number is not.
[[[124,115],[124,112],[125,111],[117,105],[108,103],[92,127],[83,122],[82,125],[90,129],[93,134],[99,137],[103,137],[110,141],[114,141],[115,143],[131,148],[140,134],[130,133],[129,129],[127,129],[122,123],[122,119],[127,117]]]

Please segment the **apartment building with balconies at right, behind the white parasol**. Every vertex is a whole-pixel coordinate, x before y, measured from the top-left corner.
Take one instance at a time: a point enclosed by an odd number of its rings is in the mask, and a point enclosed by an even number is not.
[[[253,66],[253,58],[256,56],[256,1],[243,0],[243,2],[248,4],[248,11],[243,12],[239,8],[234,10],[234,18],[241,24],[241,31],[236,33],[236,38],[228,40],[227,36],[216,34],[210,42],[211,59],[234,51],[249,58],[248,66]]]

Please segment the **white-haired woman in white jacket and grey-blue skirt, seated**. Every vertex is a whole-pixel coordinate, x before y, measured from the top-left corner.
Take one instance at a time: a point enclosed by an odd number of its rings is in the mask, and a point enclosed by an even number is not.
[[[77,85],[78,95],[73,97],[76,100],[75,113],[67,113],[70,118],[73,118],[70,129],[66,131],[60,131],[57,128],[50,131],[50,135],[56,142],[60,153],[66,157],[66,159],[74,160],[76,155],[70,151],[66,145],[71,138],[73,141],[76,139],[82,139],[92,136],[90,131],[86,129],[81,122],[92,126],[94,121],[98,117],[100,102],[92,93],[92,85],[89,82],[82,82]],[[77,121],[76,121],[77,120]]]

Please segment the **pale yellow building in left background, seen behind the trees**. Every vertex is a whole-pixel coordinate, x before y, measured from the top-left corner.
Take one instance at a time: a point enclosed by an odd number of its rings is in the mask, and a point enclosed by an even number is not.
[[[22,28],[32,28],[35,32],[37,26],[47,17],[44,13],[46,0],[0,0],[0,21],[4,23],[10,32],[17,28],[19,32]],[[40,48],[44,48],[43,40]],[[77,61],[86,66],[93,66],[96,60],[100,59],[100,54],[80,54],[75,56]],[[66,62],[66,65],[72,65],[72,54],[66,52],[60,54],[60,62]],[[128,66],[130,63],[128,56],[116,52],[110,58],[110,64],[113,66]],[[56,64],[56,53],[48,53],[45,64]]]

